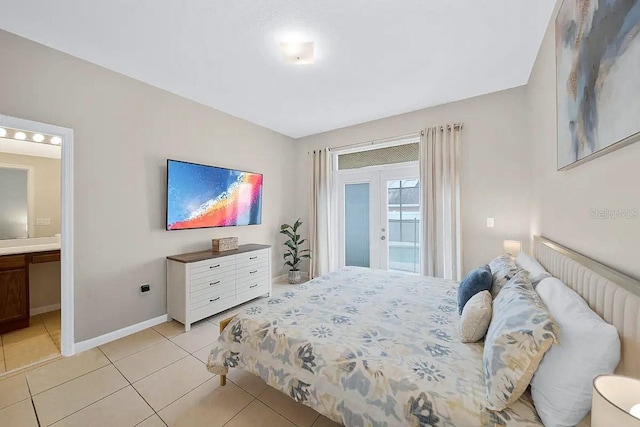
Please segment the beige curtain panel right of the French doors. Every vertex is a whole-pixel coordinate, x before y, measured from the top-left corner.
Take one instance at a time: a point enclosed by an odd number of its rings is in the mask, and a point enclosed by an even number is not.
[[[462,126],[425,129],[420,139],[421,271],[460,280],[460,146]]]

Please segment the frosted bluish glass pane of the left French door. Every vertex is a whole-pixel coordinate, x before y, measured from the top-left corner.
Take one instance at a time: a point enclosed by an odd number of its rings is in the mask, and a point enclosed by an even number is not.
[[[369,267],[369,184],[344,186],[345,265]]]

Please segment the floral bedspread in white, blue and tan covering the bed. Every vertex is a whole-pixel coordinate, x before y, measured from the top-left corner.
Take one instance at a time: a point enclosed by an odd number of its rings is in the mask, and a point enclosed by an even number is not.
[[[456,282],[348,267],[292,289],[234,318],[208,369],[248,370],[346,426],[542,426],[526,397],[484,407]]]

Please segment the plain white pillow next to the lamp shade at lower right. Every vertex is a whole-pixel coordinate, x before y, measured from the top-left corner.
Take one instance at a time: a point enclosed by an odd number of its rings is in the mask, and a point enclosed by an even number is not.
[[[533,375],[531,397],[546,427],[575,426],[591,408],[593,379],[618,366],[618,331],[555,277],[542,280],[536,291],[560,336]]]

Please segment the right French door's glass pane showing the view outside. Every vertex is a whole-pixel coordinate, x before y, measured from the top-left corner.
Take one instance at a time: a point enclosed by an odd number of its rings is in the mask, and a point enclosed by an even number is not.
[[[420,272],[420,184],[387,181],[389,270]]]

